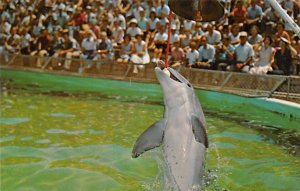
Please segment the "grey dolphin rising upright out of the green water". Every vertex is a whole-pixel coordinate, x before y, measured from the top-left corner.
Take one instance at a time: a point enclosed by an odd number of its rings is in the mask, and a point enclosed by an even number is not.
[[[132,157],[162,145],[174,190],[200,188],[208,138],[205,117],[192,85],[172,68],[155,68],[164,94],[164,117],[137,139]]]

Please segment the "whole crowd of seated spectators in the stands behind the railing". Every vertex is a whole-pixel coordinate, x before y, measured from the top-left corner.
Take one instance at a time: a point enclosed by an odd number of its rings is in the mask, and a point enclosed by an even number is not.
[[[299,25],[298,1],[277,1]],[[220,3],[225,14],[219,21],[195,22],[173,15],[173,67],[295,72],[292,58],[299,58],[299,37],[267,2]],[[157,62],[167,48],[169,13],[167,0],[2,0],[0,51],[91,60],[86,67],[109,59],[119,64]],[[66,59],[62,65],[68,70],[71,64]],[[37,59],[37,67],[42,65]],[[134,73],[138,70],[135,67]]]

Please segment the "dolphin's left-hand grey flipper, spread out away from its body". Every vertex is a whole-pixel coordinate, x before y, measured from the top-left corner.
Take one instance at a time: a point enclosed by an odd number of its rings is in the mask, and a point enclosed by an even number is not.
[[[161,119],[144,131],[135,142],[132,149],[132,158],[140,156],[143,152],[161,145],[165,131],[165,120]]]

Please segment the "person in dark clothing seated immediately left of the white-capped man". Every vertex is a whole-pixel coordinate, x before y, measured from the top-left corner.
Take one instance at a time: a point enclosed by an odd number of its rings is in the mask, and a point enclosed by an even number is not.
[[[230,43],[230,36],[224,36],[222,44],[217,46],[216,61],[213,69],[225,71],[228,66],[233,64],[235,47]]]

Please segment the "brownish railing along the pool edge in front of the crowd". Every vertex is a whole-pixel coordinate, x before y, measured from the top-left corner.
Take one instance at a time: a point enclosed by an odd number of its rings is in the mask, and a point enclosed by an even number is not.
[[[36,63],[40,62],[37,67]],[[71,67],[65,70],[63,65],[70,62]],[[21,54],[0,56],[1,67],[36,70],[39,72],[53,71],[82,76],[98,76],[118,80],[157,83],[154,64],[134,65],[133,63],[118,64],[115,59],[93,61],[82,59],[66,59],[55,57],[37,57]],[[138,73],[134,73],[134,67]],[[238,72],[179,68],[195,88],[230,92],[248,97],[277,97],[300,103],[300,77],[278,75],[252,75]]]

